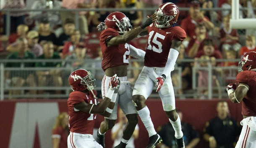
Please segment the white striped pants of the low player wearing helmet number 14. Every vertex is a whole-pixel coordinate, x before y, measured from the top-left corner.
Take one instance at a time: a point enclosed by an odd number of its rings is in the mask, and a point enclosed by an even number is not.
[[[91,134],[70,132],[68,135],[68,148],[103,148]]]

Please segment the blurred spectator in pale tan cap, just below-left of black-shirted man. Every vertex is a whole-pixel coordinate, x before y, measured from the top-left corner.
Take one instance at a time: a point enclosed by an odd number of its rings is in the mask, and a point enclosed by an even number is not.
[[[36,58],[44,53],[42,46],[38,43],[38,38],[39,34],[37,31],[29,31],[27,34],[28,47]]]

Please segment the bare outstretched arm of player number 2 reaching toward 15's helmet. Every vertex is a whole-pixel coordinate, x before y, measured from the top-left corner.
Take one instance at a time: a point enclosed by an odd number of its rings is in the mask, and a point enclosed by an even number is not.
[[[151,15],[141,26],[128,31],[127,33],[121,35],[121,36],[115,36],[107,41],[107,47],[127,43],[128,41],[131,41],[133,38],[136,38],[144,29],[152,24],[157,19],[157,14],[154,13]]]

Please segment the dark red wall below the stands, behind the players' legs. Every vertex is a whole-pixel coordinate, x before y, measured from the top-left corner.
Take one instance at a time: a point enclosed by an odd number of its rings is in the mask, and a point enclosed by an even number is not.
[[[210,120],[212,117],[217,116],[216,105],[218,101],[219,100],[177,100],[176,108],[180,109],[183,112],[183,121],[192,124],[195,127],[195,129],[199,131],[200,135],[202,135],[202,130],[204,128],[205,122]],[[60,112],[68,111],[66,100],[6,100],[0,102],[0,131],[4,133],[0,134],[0,145],[3,148],[9,147],[11,128],[14,116],[13,114],[17,102],[57,102]],[[227,100],[227,102],[229,104],[231,117],[237,119],[237,121],[242,120],[241,104],[233,104],[229,100]],[[155,129],[157,129],[159,125],[169,122],[167,116],[165,115],[165,112],[162,109],[161,100],[148,99],[146,101],[146,104],[149,107],[149,110],[151,111],[151,118],[154,123]],[[104,120],[104,118],[98,115],[95,128],[99,128],[100,122],[102,120]],[[139,120],[139,128],[139,138],[135,140],[135,145],[136,148],[144,148],[148,143],[148,133],[141,120]],[[37,132],[37,129],[35,129],[35,133]],[[38,135],[35,134],[34,148],[42,148],[43,146],[40,147],[40,141],[37,136]],[[105,143],[106,148],[112,148],[113,142],[110,139],[110,131],[107,132],[106,134]],[[208,145],[208,143],[206,143],[201,138],[201,141],[199,145],[196,146],[196,148],[206,148],[206,145]]]

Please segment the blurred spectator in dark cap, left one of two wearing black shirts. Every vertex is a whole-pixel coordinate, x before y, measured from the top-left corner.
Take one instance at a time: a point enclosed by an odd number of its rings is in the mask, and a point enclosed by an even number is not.
[[[41,18],[39,23],[38,33],[39,33],[38,43],[41,46],[43,46],[44,43],[46,43],[47,41],[52,41],[52,43],[55,45],[54,48],[57,47],[57,37],[55,33],[52,32],[50,28],[49,19],[47,17]]]

